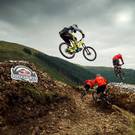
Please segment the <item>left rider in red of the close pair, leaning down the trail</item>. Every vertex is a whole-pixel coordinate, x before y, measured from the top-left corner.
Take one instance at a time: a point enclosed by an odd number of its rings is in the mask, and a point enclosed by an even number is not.
[[[94,87],[94,80],[85,80],[84,81],[84,89],[81,95],[81,98],[83,98],[88,92],[90,92]]]

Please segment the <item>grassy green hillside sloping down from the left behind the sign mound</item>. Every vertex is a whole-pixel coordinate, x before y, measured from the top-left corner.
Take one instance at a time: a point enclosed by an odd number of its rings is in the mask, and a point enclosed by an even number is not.
[[[70,84],[80,84],[85,79],[94,76],[94,73],[87,69],[60,58],[46,55],[20,44],[0,41],[0,61],[5,60],[33,62],[40,69],[48,72],[53,78]]]

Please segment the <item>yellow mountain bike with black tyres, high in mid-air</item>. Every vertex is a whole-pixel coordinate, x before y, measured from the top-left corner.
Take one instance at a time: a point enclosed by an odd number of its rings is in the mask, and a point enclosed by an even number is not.
[[[74,58],[75,54],[80,51],[83,51],[83,56],[88,61],[94,61],[97,57],[96,51],[92,47],[86,46],[83,38],[79,41],[76,39],[70,41],[70,45],[65,42],[61,43],[59,45],[59,51],[67,59]]]

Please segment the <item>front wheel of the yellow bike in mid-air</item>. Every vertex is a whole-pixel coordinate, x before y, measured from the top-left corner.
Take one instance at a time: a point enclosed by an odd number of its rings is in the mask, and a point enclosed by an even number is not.
[[[83,49],[83,56],[88,61],[94,61],[97,57],[97,53],[92,47],[86,46]]]

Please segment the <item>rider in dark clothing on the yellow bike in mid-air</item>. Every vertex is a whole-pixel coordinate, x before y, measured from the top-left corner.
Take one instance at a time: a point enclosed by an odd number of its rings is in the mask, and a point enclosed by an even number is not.
[[[60,37],[69,45],[71,46],[71,41],[74,41],[76,42],[77,41],[77,38],[73,35],[73,33],[76,33],[76,32],[80,32],[82,34],[82,38],[85,37],[84,33],[82,32],[81,29],[78,28],[78,26],[76,24],[73,24],[69,27],[64,27],[60,32]],[[77,48],[79,48],[77,45],[76,45]],[[71,46],[70,48],[70,52],[73,52],[74,47]]]

